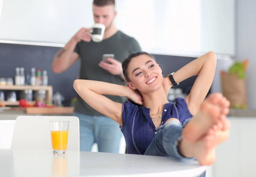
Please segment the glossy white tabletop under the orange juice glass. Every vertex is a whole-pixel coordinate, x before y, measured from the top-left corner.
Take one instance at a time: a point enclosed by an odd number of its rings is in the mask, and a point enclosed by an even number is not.
[[[0,177],[195,177],[206,168],[168,157],[99,152],[0,149]]]

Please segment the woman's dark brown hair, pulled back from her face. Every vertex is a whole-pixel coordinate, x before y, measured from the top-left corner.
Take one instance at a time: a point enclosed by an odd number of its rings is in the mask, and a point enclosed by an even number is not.
[[[151,57],[155,62],[156,62],[156,59],[153,55],[151,54],[148,54],[147,52],[145,51],[135,51],[135,52],[132,52],[131,54],[129,54],[128,58],[126,58],[123,62],[122,62],[122,70],[123,70],[123,75],[125,77],[125,80],[127,82],[130,82],[130,78],[128,77],[128,67],[129,67],[129,64],[131,62],[131,60],[134,58],[134,57],[137,57],[137,56],[140,56],[140,55],[147,55],[148,57]],[[142,94],[140,93],[140,91],[138,91],[137,89],[135,90],[139,95],[141,95],[142,97]],[[136,105],[136,106],[141,106],[137,103],[134,103],[132,100],[128,99],[128,101],[130,101],[132,104]]]

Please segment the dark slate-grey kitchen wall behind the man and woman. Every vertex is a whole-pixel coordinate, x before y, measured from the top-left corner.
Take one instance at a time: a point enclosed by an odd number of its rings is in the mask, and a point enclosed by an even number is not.
[[[76,62],[64,73],[53,73],[51,64],[58,50],[58,47],[0,43],[0,77],[14,78],[16,67],[24,67],[25,74],[30,74],[32,67],[36,69],[39,68],[41,71],[47,70],[49,85],[53,86],[53,93],[60,91],[67,100],[70,100],[76,97],[76,92],[73,89],[73,80],[75,80],[79,74],[80,62]],[[182,66],[195,59],[193,57],[167,55],[155,55],[155,57],[160,66],[162,66],[165,76],[173,71],[177,71]],[[192,77],[183,81],[177,88],[182,88],[184,92],[188,93],[195,78],[196,77]]]

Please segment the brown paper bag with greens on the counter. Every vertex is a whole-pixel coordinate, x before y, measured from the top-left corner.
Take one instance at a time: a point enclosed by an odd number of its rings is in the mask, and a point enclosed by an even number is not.
[[[231,108],[247,108],[246,78],[221,72],[222,94],[230,101]]]

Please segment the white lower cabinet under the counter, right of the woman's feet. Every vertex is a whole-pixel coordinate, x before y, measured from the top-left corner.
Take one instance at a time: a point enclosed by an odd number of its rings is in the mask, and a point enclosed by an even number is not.
[[[256,117],[230,117],[229,139],[218,146],[213,177],[256,176]]]

